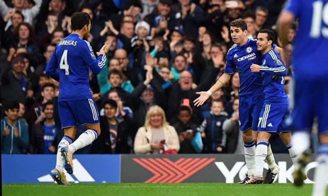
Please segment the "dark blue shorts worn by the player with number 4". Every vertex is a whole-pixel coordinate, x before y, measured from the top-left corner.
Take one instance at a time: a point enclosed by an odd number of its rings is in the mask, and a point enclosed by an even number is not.
[[[98,124],[99,113],[93,99],[58,102],[61,128]]]

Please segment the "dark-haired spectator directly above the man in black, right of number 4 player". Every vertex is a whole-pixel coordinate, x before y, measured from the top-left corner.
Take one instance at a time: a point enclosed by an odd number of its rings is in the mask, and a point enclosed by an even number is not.
[[[111,90],[115,89],[119,92],[122,102],[125,105],[130,104],[130,93],[121,88],[121,83],[124,76],[121,71],[113,69],[108,74],[108,82],[110,83],[110,89],[101,95],[100,104],[103,106],[108,99],[108,94]]]

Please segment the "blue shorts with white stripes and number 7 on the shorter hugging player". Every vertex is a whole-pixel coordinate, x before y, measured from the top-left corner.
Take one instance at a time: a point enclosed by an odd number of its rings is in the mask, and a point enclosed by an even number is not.
[[[289,117],[289,105],[264,104],[258,119],[258,129],[261,132],[291,132],[285,120]]]

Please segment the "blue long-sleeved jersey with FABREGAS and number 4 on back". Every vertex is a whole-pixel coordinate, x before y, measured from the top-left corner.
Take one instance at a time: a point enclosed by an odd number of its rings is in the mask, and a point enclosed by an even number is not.
[[[58,101],[92,99],[89,68],[99,74],[106,55],[96,59],[88,41],[71,34],[60,41],[47,65],[47,74],[59,82]],[[57,70],[58,68],[58,70]]]

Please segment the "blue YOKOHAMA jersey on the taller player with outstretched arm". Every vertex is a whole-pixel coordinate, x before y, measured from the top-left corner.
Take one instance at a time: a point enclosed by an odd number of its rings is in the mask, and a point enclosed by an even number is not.
[[[234,44],[227,54],[227,64],[224,74],[233,74],[237,67],[239,74],[239,95],[258,96],[263,94],[261,74],[252,72],[252,63],[261,64],[261,52],[257,51],[256,40],[248,39],[239,46]]]

